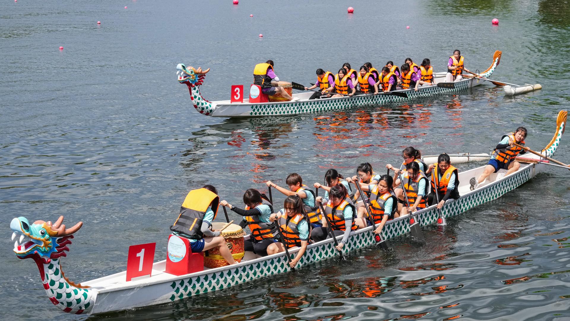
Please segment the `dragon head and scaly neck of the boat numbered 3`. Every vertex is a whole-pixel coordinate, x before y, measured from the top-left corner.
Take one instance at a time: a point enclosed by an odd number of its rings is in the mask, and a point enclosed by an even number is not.
[[[210,68],[206,70],[202,70],[202,67],[198,67],[198,69],[194,69],[194,67],[187,68],[183,63],[179,63],[176,69],[178,70],[176,72],[178,82],[188,86],[190,100],[194,108],[202,115],[211,116],[211,113],[215,109],[215,104],[207,101],[202,97],[202,94],[200,94],[200,85],[203,84],[206,73],[210,71]]]

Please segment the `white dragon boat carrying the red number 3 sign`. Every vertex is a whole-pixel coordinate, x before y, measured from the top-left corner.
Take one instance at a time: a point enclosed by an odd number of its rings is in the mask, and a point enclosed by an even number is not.
[[[487,70],[479,75],[489,78],[499,65],[501,51],[495,51],[493,62]],[[400,103],[410,101],[421,97],[429,97],[439,94],[448,94],[450,92],[462,91],[467,88],[478,86],[483,83],[482,79],[464,78],[459,82],[453,83],[453,88],[438,87],[438,83],[445,83],[446,72],[438,72],[434,75],[434,86],[424,86],[418,91],[411,89],[397,90],[394,92],[405,93],[408,97],[400,97],[394,95],[355,95],[352,97],[331,97],[323,99],[309,100],[313,92],[301,92],[293,94],[293,97],[299,97],[297,101],[279,101],[269,103],[250,103],[249,99],[243,99],[243,103],[232,103],[231,100],[207,101],[200,94],[200,86],[203,84],[206,73],[210,71],[201,68],[194,69],[186,67],[179,63],[177,68],[178,82],[186,84],[190,91],[190,100],[193,107],[202,115],[212,117],[259,117],[273,115],[296,115],[299,113],[323,112],[340,109],[348,109],[363,105],[382,105],[388,103]]]

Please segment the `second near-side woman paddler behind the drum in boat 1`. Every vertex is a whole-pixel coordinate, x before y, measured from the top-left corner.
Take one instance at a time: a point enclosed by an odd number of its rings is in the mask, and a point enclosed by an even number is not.
[[[335,237],[338,235],[343,235],[343,240],[339,242],[336,247],[337,250],[342,250],[344,245],[348,242],[348,237],[352,230],[356,230],[359,227],[355,224],[356,212],[355,206],[352,200],[348,198],[347,188],[343,184],[335,185],[331,188],[329,192],[330,200],[324,207],[325,215],[329,218],[331,222],[331,227]],[[323,218],[323,226],[317,227],[311,231],[311,238],[315,242],[323,241],[330,237],[327,229],[326,221]]]

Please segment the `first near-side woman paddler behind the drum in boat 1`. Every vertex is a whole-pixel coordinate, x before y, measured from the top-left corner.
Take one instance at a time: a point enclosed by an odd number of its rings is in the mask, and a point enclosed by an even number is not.
[[[303,216],[302,210],[303,202],[299,197],[291,195],[285,199],[283,208],[279,210],[279,213],[271,216],[271,221],[278,221],[281,235],[283,236],[283,243],[285,243],[287,248],[292,250],[300,247],[295,258],[289,263],[291,267],[295,267],[297,262],[303,257],[309,241],[309,225],[307,224],[307,218]],[[267,253],[271,255],[285,251],[283,243],[272,243],[267,247]]]

